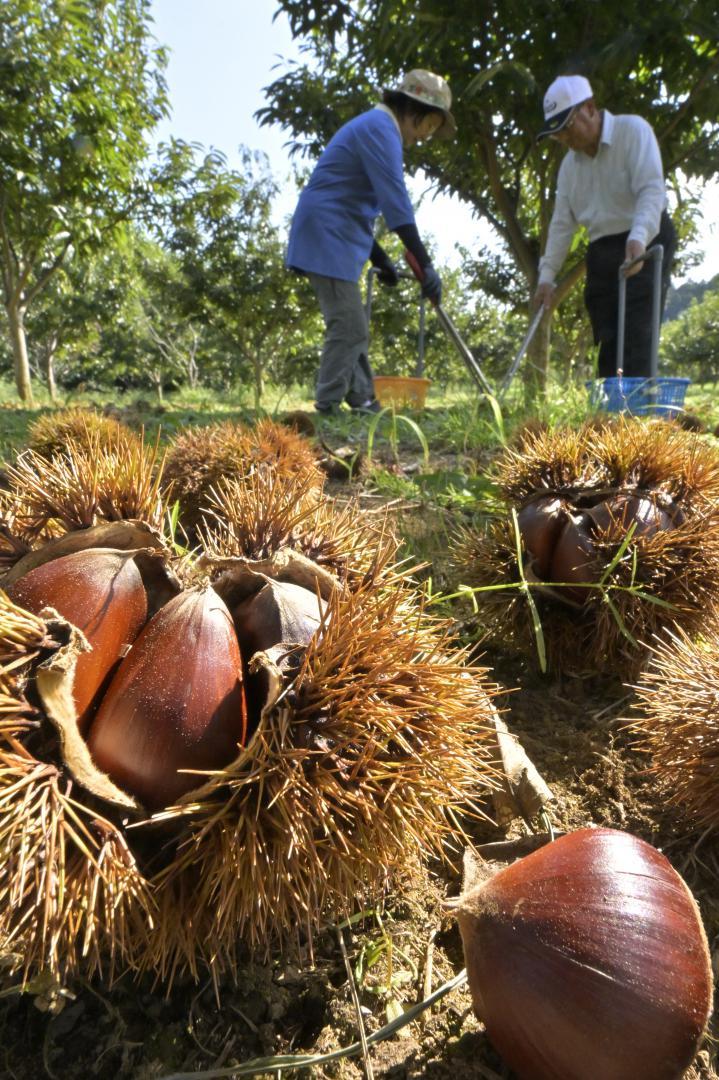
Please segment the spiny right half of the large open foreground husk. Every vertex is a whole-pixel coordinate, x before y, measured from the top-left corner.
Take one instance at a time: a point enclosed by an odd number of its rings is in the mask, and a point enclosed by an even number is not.
[[[491,703],[445,624],[386,571],[329,600],[322,634],[239,760],[169,809],[185,839],[154,880],[169,975],[233,967],[401,889],[461,847],[493,786]],[[202,914],[201,914],[202,913]],[[165,914],[168,916],[165,921]]]

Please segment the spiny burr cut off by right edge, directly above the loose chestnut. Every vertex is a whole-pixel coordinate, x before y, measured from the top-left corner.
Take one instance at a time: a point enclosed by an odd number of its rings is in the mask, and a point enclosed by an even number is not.
[[[701,635],[667,633],[636,686],[629,729],[689,826],[719,827],[719,610]]]

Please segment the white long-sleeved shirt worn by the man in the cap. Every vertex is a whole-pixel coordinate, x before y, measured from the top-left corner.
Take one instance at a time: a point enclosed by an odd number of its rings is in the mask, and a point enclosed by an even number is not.
[[[647,245],[659,232],[665,206],[662,156],[654,132],[641,117],[615,117],[605,109],[596,156],[569,150],[559,166],[539,283],[554,282],[580,225],[589,241],[628,232],[627,240]]]

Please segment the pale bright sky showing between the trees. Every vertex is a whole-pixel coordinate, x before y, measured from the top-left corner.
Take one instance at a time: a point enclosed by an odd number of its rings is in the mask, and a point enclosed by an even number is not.
[[[262,87],[277,72],[282,59],[297,59],[284,14],[273,22],[276,0],[152,0],[154,35],[169,49],[167,82],[172,117],[159,136],[176,135],[221,150],[230,164],[239,164],[238,148],[263,150],[283,193],[275,205],[279,218],[291,214],[296,189],[283,144],[287,133],[260,127],[254,113],[266,104]],[[284,183],[287,180],[287,183]],[[428,192],[421,179],[410,185],[420,232],[435,239],[439,258],[457,265],[455,244],[473,252],[491,244],[491,232],[473,219],[459,200],[421,198]],[[421,201],[420,201],[421,200]],[[719,273],[719,187],[705,199],[703,243],[705,258],[691,278]]]

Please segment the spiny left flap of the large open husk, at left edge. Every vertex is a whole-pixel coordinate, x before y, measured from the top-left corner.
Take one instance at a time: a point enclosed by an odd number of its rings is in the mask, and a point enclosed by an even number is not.
[[[80,968],[111,980],[137,967],[154,912],[122,827],[59,755],[33,753],[53,742],[52,726],[25,689],[66,631],[0,591],[0,955],[24,981],[60,985]]]

